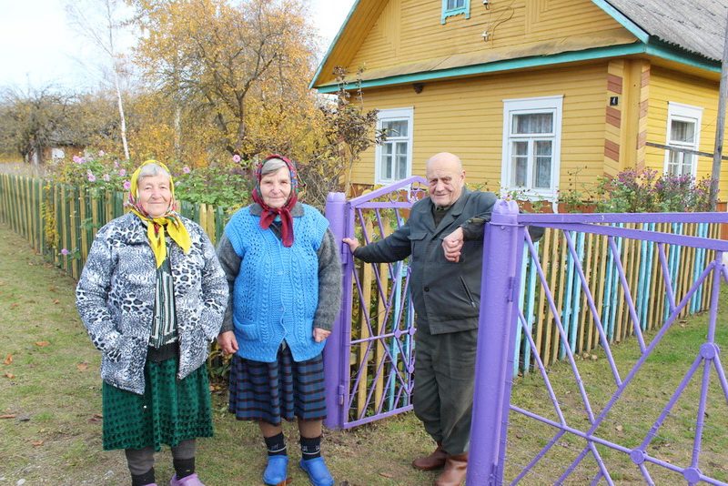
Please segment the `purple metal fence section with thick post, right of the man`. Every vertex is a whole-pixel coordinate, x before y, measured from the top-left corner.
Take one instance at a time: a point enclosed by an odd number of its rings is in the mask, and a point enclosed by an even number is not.
[[[728,215],[519,215],[514,202],[499,201],[485,235],[487,254],[483,261],[468,486],[670,481],[728,484],[728,380],[720,359],[721,346],[726,345],[721,339],[728,340],[728,334],[716,333],[720,281],[728,279],[723,266],[728,241],[603,225],[666,221],[728,223]],[[569,346],[564,348],[563,366],[544,368],[528,319],[519,309],[523,248],[527,250],[526,258],[531,258],[531,264],[538,270],[563,342],[568,342],[568,336],[561,323],[563,309],[557,309],[554,289],[549,289],[548,269],[541,268],[538,252],[524,225],[563,230],[581,280],[580,299],[590,309],[599,331],[601,349],[597,352],[604,363],[601,376],[582,373],[583,361],[574,356]],[[636,337],[631,357],[619,363],[612,359],[611,342],[592,299],[589,279],[584,275],[587,269],[581,267],[573,243],[573,235],[578,232],[609,239],[608,248],[624,292],[623,305],[629,308]],[[652,242],[659,254],[669,311],[662,328],[653,336],[642,331],[634,306],[638,296],[633,295],[624,278],[622,254],[616,244],[620,239]],[[702,271],[684,295],[675,295],[666,262],[668,248],[678,247],[703,248],[708,254]],[[641,373],[654,377],[661,371],[654,367],[655,363],[671,358],[665,334],[676,325],[695,292],[706,285],[712,292],[711,311],[706,316],[708,330],[703,343],[691,349],[692,364],[686,364],[684,374],[675,382],[665,381],[658,389],[639,388]],[[519,329],[531,343],[531,364],[527,365],[538,372],[514,379],[514,343]],[[702,377],[698,380],[701,366]],[[533,390],[538,390],[531,400],[521,398],[521,402],[511,403],[512,387],[528,387],[530,382],[535,383]],[[648,394],[661,405],[644,406],[642,399]]]

